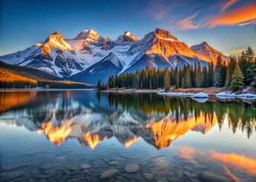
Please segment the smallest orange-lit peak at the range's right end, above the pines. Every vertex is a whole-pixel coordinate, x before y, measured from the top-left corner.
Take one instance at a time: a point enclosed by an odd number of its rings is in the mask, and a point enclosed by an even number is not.
[[[202,42],[199,45],[193,45],[191,46],[191,49],[194,52],[197,52],[199,55],[203,55],[206,58],[209,58],[213,61],[214,64],[216,64],[217,58],[219,55],[221,55],[221,58],[223,61],[227,61],[229,57],[223,55],[221,52],[218,52],[216,49],[213,49],[210,45],[208,45],[206,42]]]

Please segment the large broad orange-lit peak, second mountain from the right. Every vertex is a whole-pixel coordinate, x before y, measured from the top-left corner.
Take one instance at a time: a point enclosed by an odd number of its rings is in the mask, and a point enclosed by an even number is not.
[[[136,69],[150,67],[183,67],[184,64],[194,64],[200,62],[206,64],[210,61],[203,55],[198,55],[190,49],[184,42],[180,42],[176,37],[166,30],[156,29],[147,34],[130,47],[129,52],[139,52],[136,58],[124,68],[123,71],[136,71]]]

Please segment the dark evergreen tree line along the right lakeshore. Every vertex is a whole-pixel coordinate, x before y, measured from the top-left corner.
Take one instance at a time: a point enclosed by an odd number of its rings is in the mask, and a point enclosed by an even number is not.
[[[157,89],[170,86],[178,88],[206,88],[223,87],[233,92],[241,91],[244,86],[256,87],[256,57],[253,50],[248,47],[238,56],[229,56],[229,61],[223,61],[219,55],[216,65],[213,61],[207,66],[200,62],[187,64],[184,67],[175,67],[169,70],[156,70],[147,66],[142,71],[122,73],[109,77],[107,84],[98,81],[98,89],[130,88],[130,89]]]

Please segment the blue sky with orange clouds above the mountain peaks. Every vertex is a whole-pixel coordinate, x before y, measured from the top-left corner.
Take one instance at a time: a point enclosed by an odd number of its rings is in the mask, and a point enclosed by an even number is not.
[[[59,30],[75,38],[86,29],[139,39],[155,28],[187,45],[206,41],[225,55],[256,52],[255,0],[0,0],[0,55],[27,49]]]

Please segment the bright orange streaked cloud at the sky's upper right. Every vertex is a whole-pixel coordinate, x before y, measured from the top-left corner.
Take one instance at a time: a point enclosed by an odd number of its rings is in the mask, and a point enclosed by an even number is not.
[[[194,17],[198,12],[184,20],[178,21],[178,27],[181,30],[199,29],[203,27],[214,28],[218,26],[245,26],[248,24],[256,24],[256,3],[250,3],[235,10],[222,13],[213,17],[206,17],[199,24],[194,24]]]

